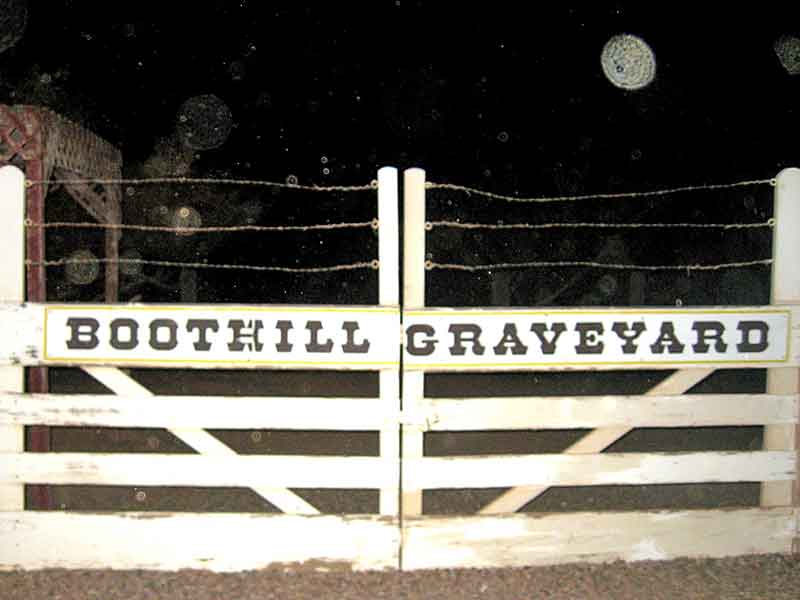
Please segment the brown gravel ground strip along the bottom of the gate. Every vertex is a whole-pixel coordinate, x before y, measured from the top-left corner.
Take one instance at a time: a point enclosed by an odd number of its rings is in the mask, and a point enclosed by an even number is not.
[[[800,557],[573,564],[523,569],[237,574],[46,570],[0,573],[5,600],[800,598]]]

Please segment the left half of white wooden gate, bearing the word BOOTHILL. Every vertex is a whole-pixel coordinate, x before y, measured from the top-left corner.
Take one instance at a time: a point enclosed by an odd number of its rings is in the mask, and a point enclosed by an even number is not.
[[[0,267],[6,327],[0,341],[5,365],[0,367],[2,568],[239,571],[299,563],[355,569],[397,566],[400,345],[392,336],[390,343],[378,339],[369,352],[359,353],[364,341],[346,325],[372,319],[372,326],[383,333],[399,331],[396,170],[382,169],[378,181],[378,306],[52,306],[23,305],[24,179],[13,167],[0,170],[0,239],[6,254]],[[96,336],[86,325],[93,316]],[[190,318],[204,324],[191,330],[191,339],[185,329]],[[232,320],[240,321],[235,328],[238,348],[228,344],[229,339],[213,336],[216,328]],[[256,321],[259,325],[254,326]],[[288,336],[286,323],[293,321],[299,331],[292,332],[298,333],[292,352],[256,350],[256,330],[262,322],[271,323],[273,330],[275,325],[284,328]],[[181,324],[179,334],[176,323]],[[348,355],[341,347],[324,352],[323,326],[336,327],[345,336],[343,344],[349,340],[354,352]],[[115,333],[109,334],[108,328]],[[304,329],[317,336],[322,352],[311,353],[300,342]],[[180,344],[170,340],[172,334],[180,336]],[[134,348],[132,341],[140,336],[141,346]],[[176,346],[165,350],[173,342]],[[204,342],[210,348],[204,350]],[[181,352],[182,358],[176,358]],[[24,368],[38,364],[80,366],[116,395],[25,394]],[[379,395],[157,397],[117,368],[148,365],[376,371]],[[24,451],[24,427],[31,425],[166,428],[196,454],[29,453]],[[208,433],[210,428],[375,431],[380,455],[240,455]],[[250,487],[286,514],[26,511],[25,484]],[[379,514],[319,514],[290,488],[378,489]]]

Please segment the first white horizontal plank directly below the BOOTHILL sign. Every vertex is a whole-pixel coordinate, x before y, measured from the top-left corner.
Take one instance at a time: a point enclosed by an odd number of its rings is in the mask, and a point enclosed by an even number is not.
[[[396,427],[388,409],[378,398],[0,393],[8,425],[376,431]]]

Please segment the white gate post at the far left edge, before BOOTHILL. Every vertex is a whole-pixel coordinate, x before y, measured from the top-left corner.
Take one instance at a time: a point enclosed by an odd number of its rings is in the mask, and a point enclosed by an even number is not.
[[[25,300],[25,175],[16,167],[0,168],[0,300]],[[0,390],[25,391],[24,367],[0,367]],[[0,452],[25,449],[23,426],[0,426]],[[24,485],[0,486],[0,510],[25,508]]]

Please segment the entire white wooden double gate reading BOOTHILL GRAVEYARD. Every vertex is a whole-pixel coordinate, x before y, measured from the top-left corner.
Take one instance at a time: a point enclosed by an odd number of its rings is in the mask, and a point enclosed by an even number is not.
[[[17,170],[0,171],[0,237],[6,255],[19,257],[0,265],[0,568],[418,569],[798,551],[798,169],[776,181],[773,305],[686,310],[426,307],[425,174],[410,169],[401,311],[398,182],[391,168],[379,174],[378,306],[23,305],[23,190]],[[306,340],[311,350],[295,340],[294,354],[243,343],[233,356],[229,344],[208,333],[224,321],[256,318],[272,329],[275,348],[287,341],[281,337],[287,321],[296,322],[295,332],[322,337]],[[205,322],[209,337],[189,319]],[[238,327],[226,340],[249,335],[252,342],[252,326]],[[143,346],[149,333],[144,353],[134,347],[135,328]],[[322,332],[332,331],[337,347],[310,357]],[[157,397],[116,368],[163,365],[160,356],[188,368],[372,370],[379,372],[380,392],[371,400]],[[116,395],[23,393],[24,368],[41,364],[78,365]],[[741,367],[769,369],[766,393],[687,393],[717,369]],[[426,372],[608,369],[674,373],[638,396],[426,395]],[[23,428],[32,425],[162,427],[197,454],[28,453]],[[604,452],[635,428],[710,426],[764,426],[764,447]],[[380,455],[237,455],[210,428],[376,431]],[[590,431],[557,454],[426,456],[424,450],[426,434],[437,432],[561,429]],[[552,486],[705,482],[760,482],[761,506],[517,512]],[[25,484],[247,486],[287,514],[26,511]],[[379,514],[317,514],[292,488],[378,489]],[[478,514],[423,510],[425,490],[461,488],[501,491]]]

